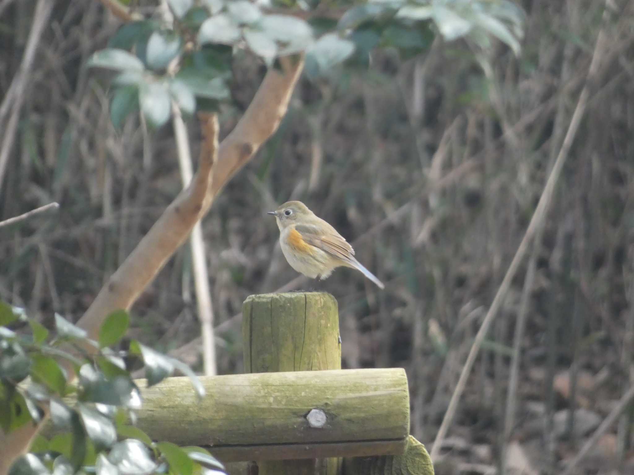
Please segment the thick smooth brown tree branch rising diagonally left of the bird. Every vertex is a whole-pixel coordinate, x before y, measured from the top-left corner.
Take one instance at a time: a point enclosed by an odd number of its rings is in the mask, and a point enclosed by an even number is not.
[[[281,58],[281,65],[281,72],[269,70],[240,122],[220,146],[217,146],[216,115],[199,115],[204,141],[198,171],[190,186],[167,207],[77,322],[89,338],[96,338],[107,315],[133,305],[209,210],[219,190],[275,133],[287,111],[304,61],[301,56]],[[0,475],[6,475],[13,460],[26,452],[41,426],[42,423],[27,424],[11,434],[0,434]]]

